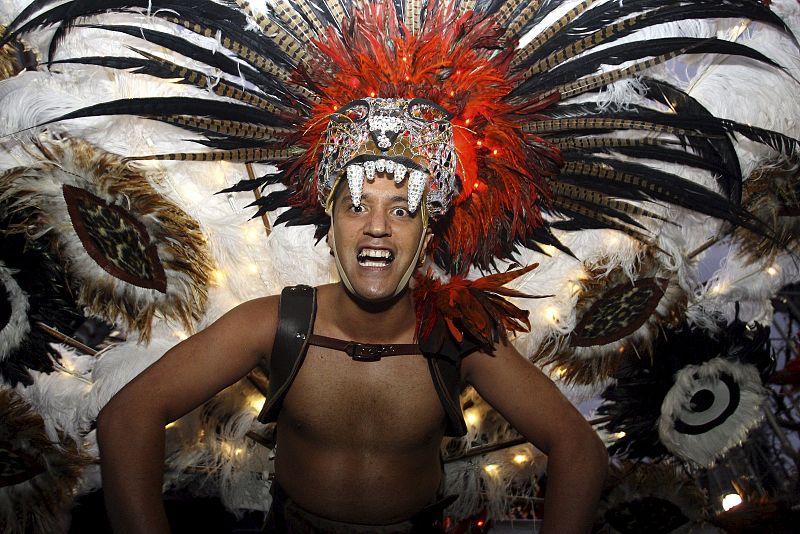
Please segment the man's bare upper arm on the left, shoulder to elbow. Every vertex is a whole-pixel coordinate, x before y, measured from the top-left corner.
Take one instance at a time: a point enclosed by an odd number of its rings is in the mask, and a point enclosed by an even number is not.
[[[278,297],[246,302],[182,341],[109,404],[153,410],[175,420],[236,382],[272,350]]]

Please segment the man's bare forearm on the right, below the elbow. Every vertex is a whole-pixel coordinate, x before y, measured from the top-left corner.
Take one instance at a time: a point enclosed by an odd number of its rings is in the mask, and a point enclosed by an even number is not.
[[[591,531],[607,471],[605,447],[594,434],[554,447],[547,458],[541,534]]]

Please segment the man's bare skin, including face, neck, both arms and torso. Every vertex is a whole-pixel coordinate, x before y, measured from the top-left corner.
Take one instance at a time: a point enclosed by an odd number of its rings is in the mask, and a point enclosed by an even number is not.
[[[394,184],[380,180],[365,184],[362,206],[341,191],[336,200],[334,246],[354,292],[342,284],[318,288],[317,334],[363,343],[416,339],[410,292],[392,293],[417,261],[422,223]],[[394,261],[386,268],[360,265],[364,247],[391,250]],[[98,440],[115,532],[168,531],[161,502],[164,426],[269,358],[277,309],[278,298],[266,297],[231,310],[103,409]],[[541,532],[588,531],[607,459],[584,418],[510,344],[465,358],[462,378],[548,454]],[[444,421],[421,355],[356,362],[312,346],[279,417],[277,479],[300,507],[322,517],[366,524],[407,519],[435,499]]]

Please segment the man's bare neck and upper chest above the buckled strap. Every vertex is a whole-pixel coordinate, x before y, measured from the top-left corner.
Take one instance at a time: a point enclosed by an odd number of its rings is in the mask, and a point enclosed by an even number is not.
[[[416,317],[409,289],[385,301],[369,302],[340,282],[332,296],[336,312],[330,322],[343,337],[360,343],[410,343],[414,338]]]

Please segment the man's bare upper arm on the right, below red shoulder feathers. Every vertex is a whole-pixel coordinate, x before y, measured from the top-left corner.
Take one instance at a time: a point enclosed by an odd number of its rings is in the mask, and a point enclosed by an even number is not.
[[[556,385],[510,344],[493,355],[476,352],[462,362],[466,380],[494,409],[544,453],[559,440],[594,434]]]

